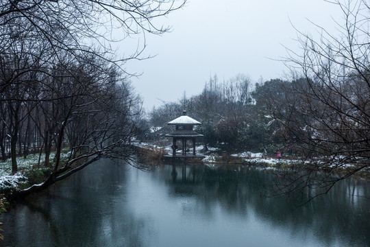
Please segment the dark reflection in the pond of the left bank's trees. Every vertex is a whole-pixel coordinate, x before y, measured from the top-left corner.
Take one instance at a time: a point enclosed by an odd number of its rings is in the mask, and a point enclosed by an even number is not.
[[[8,246],[143,246],[143,219],[127,204],[125,167],[101,161],[34,196],[6,220]],[[122,203],[121,203],[122,202]],[[27,217],[27,218],[25,218]],[[35,227],[37,226],[37,227]],[[68,229],[68,230],[67,230]],[[5,244],[5,246],[7,246]],[[33,244],[33,245],[32,245]]]

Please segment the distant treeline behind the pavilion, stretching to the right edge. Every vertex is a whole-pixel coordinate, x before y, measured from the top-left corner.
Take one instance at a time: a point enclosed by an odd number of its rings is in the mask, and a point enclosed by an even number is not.
[[[142,137],[161,137],[167,122],[187,110],[202,123],[199,141],[223,150],[368,156],[369,95],[367,80],[356,73],[331,84],[308,77],[253,84],[246,75],[227,81],[214,75],[199,95],[153,108],[148,130],[162,129]]]

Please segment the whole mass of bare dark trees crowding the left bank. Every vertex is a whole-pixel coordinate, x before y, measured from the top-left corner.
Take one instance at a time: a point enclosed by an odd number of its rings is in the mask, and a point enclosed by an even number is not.
[[[1,1],[2,156],[10,145],[16,172],[16,144],[18,151],[23,144],[27,153],[29,131],[34,130],[38,140],[33,143],[45,151],[45,165],[51,169],[44,183],[18,196],[43,189],[99,158],[132,158],[130,141],[140,119],[140,99],[127,82],[130,74],[123,64],[143,59],[145,42],[127,51],[128,56],[117,56],[115,43],[169,31],[155,20],[184,3]],[[66,145],[71,156],[62,161]],[[56,156],[51,162],[52,150]]]

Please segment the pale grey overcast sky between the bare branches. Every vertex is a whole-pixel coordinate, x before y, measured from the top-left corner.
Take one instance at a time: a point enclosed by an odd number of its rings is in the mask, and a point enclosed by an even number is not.
[[[332,19],[340,16],[324,0],[188,0],[161,20],[172,32],[146,36],[145,55],[156,57],[130,61],[126,68],[143,73],[132,82],[146,110],[176,101],[184,91],[200,93],[214,74],[229,80],[243,73],[252,82],[284,78],[288,69],[276,60],[286,56],[284,46],[298,49],[294,27],[314,34],[312,21],[336,32]]]

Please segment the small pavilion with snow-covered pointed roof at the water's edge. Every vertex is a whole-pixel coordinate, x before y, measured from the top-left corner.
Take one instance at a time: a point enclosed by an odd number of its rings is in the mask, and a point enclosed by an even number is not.
[[[173,157],[173,158],[194,158],[194,157],[203,157],[202,155],[195,154],[195,139],[197,137],[203,137],[203,134],[199,134],[195,130],[193,130],[193,127],[195,125],[200,125],[201,123],[189,116],[186,115],[186,110],[184,110],[183,115],[181,117],[177,117],[177,119],[173,119],[172,121],[169,121],[169,125],[174,125],[175,130],[170,132],[169,134],[166,134],[166,137],[172,137],[173,138],[173,145],[172,148],[172,155],[166,155],[165,157]],[[181,141],[181,143],[179,143]],[[193,155],[187,155],[187,152],[190,152],[188,149],[188,146],[190,146],[188,143],[191,141],[193,143]],[[176,150],[179,149],[179,146],[181,148],[181,153],[177,154]]]

